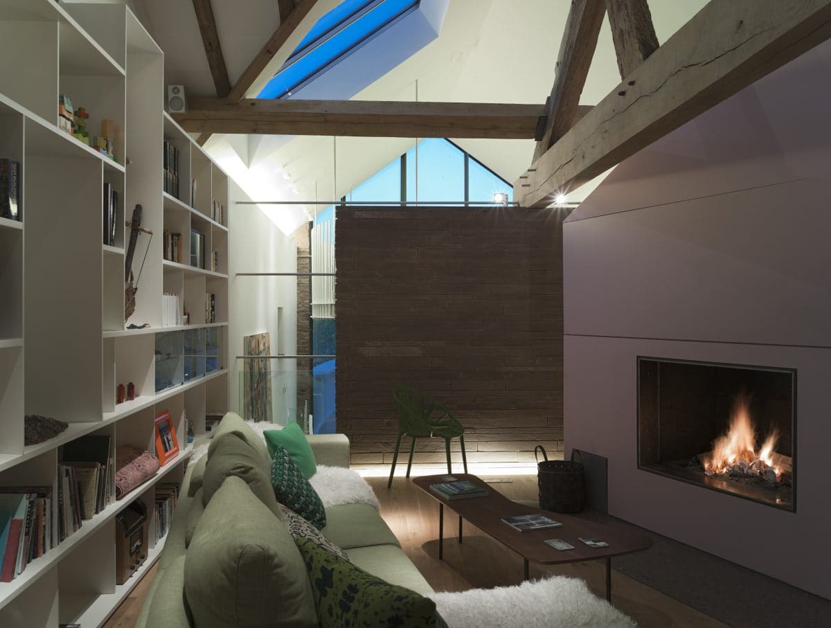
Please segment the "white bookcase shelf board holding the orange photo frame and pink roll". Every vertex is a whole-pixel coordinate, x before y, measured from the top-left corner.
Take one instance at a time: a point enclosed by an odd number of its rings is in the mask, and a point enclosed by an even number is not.
[[[168,473],[176,469],[179,464],[190,458],[193,454],[193,446],[189,445],[181,452],[176,459],[170,461],[161,467],[155,475],[141,484],[139,487],[127,493],[123,498],[117,502],[111,503],[109,506],[101,510],[101,513],[96,514],[91,519],[86,519],[81,523],[76,532],[66,537],[63,542],[53,547],[49,552],[46,552],[42,557],[34,559],[30,562],[26,569],[17,578],[11,582],[0,582],[0,609],[7,606],[9,602],[15,597],[25,591],[28,586],[36,582],[44,573],[48,572],[57,562],[66,557],[72,550],[81,544],[86,538],[90,537],[100,527],[109,523],[116,514],[124,510],[135,498],[141,493],[144,493],[147,488],[155,486]]]

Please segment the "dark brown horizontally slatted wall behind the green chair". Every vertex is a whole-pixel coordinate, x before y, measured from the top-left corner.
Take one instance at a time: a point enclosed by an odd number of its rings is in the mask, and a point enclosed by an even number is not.
[[[469,461],[532,460],[536,444],[562,455],[566,215],[338,210],[337,430],[353,464],[391,462],[399,383],[450,406]],[[416,445],[416,462],[444,459],[440,439]]]

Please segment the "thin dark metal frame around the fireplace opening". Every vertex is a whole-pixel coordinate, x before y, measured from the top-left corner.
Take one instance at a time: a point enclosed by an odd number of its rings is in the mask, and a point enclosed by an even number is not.
[[[790,413],[790,430],[791,430],[791,464],[792,464],[792,489],[793,494],[789,504],[777,504],[771,503],[768,500],[763,498],[755,498],[750,495],[747,495],[740,490],[730,490],[728,488],[728,484],[725,480],[715,480],[711,483],[696,481],[692,478],[684,478],[680,474],[676,473],[669,473],[666,471],[662,471],[661,469],[655,469],[654,467],[645,466],[641,464],[641,363],[642,361],[651,361],[651,362],[669,362],[673,364],[688,364],[693,366],[715,366],[721,368],[731,368],[731,369],[744,369],[744,370],[765,370],[774,373],[784,373],[790,375],[790,385],[791,385],[791,413]],[[796,433],[796,416],[797,416],[797,369],[789,368],[789,367],[774,367],[774,366],[760,366],[760,365],[748,365],[748,364],[737,364],[735,362],[714,362],[714,361],[699,361],[699,360],[682,360],[678,358],[668,358],[668,357],[658,357],[658,356],[636,356],[635,362],[635,374],[636,374],[636,395],[635,395],[635,415],[636,415],[636,433],[637,433],[637,469],[641,471],[646,471],[647,473],[654,473],[656,475],[661,475],[665,478],[671,478],[678,482],[683,482],[687,484],[691,484],[693,486],[703,488],[709,491],[717,491],[718,493],[725,493],[731,495],[732,497],[746,499],[750,502],[760,503],[764,506],[769,506],[771,508],[776,508],[777,510],[784,511],[785,513],[796,513],[797,507],[797,433]],[[660,389],[659,389],[660,390]],[[720,483],[725,483],[725,486],[722,487]]]

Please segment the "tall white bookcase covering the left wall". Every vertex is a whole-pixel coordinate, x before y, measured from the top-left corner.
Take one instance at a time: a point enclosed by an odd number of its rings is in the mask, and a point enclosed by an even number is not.
[[[62,446],[86,434],[155,453],[154,419],[163,410],[179,440],[178,457],[155,478],[0,583],[3,628],[94,628],[159,557],[165,539],[154,542],[155,484],[184,477],[186,420],[201,434],[205,414],[229,406],[228,218],[220,223],[211,212],[214,200],[227,212],[229,180],[164,112],[164,56],[125,5],[0,0],[0,56],[0,158],[22,164],[22,221],[0,218],[0,492],[52,485]],[[101,120],[115,122],[115,160],[59,130],[61,94],[86,108],[90,135],[99,135]],[[179,149],[179,198],[162,191],[165,141]],[[104,184],[119,197],[113,246],[102,243]],[[125,323],[125,221],[135,204],[153,237],[146,258],[146,234],[136,247],[139,290]],[[191,228],[204,237],[207,268],[189,264]],[[164,259],[165,229],[184,235],[182,262]],[[212,270],[214,251],[219,265]],[[162,326],[162,296],[171,292],[184,302],[189,324]],[[205,318],[208,292],[215,295],[213,323]],[[157,391],[157,338],[203,328],[218,346],[213,370]],[[118,403],[118,386],[129,382],[135,399]],[[26,446],[23,417],[30,414],[69,428]],[[136,499],[150,513],[148,558],[116,585],[116,514]]]

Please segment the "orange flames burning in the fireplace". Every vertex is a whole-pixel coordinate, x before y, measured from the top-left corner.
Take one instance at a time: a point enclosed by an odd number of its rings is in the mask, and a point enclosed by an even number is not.
[[[771,432],[756,454],[756,436],[753,420],[750,418],[749,400],[744,395],[736,398],[730,427],[725,434],[715,439],[711,453],[704,460],[704,469],[709,473],[730,473],[763,475],[766,469],[773,469],[773,453],[779,434]],[[746,469],[746,471],[745,471]],[[780,469],[774,469],[777,478]]]

